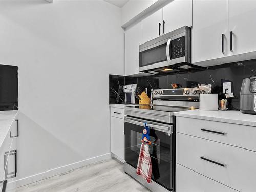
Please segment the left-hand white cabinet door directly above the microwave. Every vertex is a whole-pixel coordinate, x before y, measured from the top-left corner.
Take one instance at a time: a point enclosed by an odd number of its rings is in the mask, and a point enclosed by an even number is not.
[[[156,11],[142,20],[142,43],[152,40],[162,34],[162,20],[163,9]]]

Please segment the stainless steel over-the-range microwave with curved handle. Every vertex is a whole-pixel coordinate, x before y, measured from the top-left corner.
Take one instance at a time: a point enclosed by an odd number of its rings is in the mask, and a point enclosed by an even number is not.
[[[184,26],[139,46],[139,71],[187,71],[191,64],[191,28]]]

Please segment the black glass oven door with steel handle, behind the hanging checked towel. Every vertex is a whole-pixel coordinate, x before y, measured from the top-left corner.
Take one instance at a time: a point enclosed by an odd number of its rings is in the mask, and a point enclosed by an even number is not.
[[[173,125],[125,117],[125,161],[137,168],[144,123],[150,127],[152,180],[173,190]]]

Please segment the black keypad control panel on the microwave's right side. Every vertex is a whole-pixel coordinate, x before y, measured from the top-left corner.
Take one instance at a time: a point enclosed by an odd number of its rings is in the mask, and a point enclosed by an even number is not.
[[[185,39],[186,37],[180,37],[171,41],[170,46],[172,47],[171,59],[176,59],[185,56]]]

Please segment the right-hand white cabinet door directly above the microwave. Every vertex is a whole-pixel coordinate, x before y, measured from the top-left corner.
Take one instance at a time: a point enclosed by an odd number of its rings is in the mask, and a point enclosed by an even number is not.
[[[168,33],[182,26],[192,26],[192,0],[174,0],[163,7],[164,31]]]

